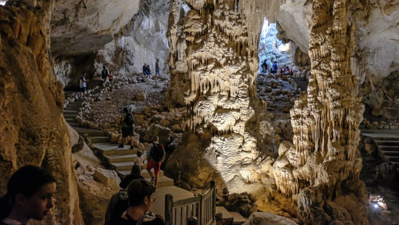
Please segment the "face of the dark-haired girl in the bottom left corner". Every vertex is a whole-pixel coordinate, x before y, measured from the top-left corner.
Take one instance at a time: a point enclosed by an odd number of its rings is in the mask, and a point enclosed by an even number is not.
[[[22,205],[23,213],[27,218],[41,221],[54,207],[53,195],[56,190],[55,183],[41,186],[39,191],[30,198],[25,198]]]

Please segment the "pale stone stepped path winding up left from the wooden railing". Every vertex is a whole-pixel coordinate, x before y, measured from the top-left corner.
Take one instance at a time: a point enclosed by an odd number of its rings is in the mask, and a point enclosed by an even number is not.
[[[71,125],[80,135],[88,137],[91,143],[94,145],[94,151],[98,151],[101,155],[103,164],[109,169],[115,170],[118,175],[123,178],[130,173],[133,166],[133,162],[137,157],[137,148],[130,149],[129,145],[125,148],[118,148],[118,144],[110,143],[111,138],[106,136],[104,131],[87,129],[79,127],[79,124],[75,120],[83,99],[77,99],[74,102],[70,102],[67,107],[64,108],[64,118],[66,122]],[[147,163],[147,161],[145,162]],[[142,171],[142,175],[147,181],[151,180],[151,176],[147,170]],[[155,192],[156,203],[153,204],[152,211],[155,214],[165,214],[165,195],[173,195],[174,201],[188,199],[194,197],[193,193],[175,187],[174,181],[166,176],[164,172],[160,172],[160,180],[158,183],[158,191]]]

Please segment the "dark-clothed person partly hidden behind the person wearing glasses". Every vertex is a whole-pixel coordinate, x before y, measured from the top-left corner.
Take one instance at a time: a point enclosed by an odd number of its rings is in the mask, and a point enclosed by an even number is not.
[[[139,165],[133,165],[132,170],[128,176],[126,176],[119,187],[122,189],[114,194],[109,201],[107,212],[105,214],[105,225],[110,221],[115,220],[115,218],[120,218],[122,214],[129,208],[128,204],[128,194],[126,188],[132,181],[137,179],[143,179],[141,176],[141,168]]]

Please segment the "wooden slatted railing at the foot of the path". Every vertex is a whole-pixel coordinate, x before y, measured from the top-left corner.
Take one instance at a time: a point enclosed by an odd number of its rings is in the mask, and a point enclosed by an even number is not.
[[[173,202],[173,196],[165,195],[166,225],[187,225],[189,218],[197,218],[198,225],[210,225],[216,214],[216,186],[210,182],[210,189],[197,197]]]

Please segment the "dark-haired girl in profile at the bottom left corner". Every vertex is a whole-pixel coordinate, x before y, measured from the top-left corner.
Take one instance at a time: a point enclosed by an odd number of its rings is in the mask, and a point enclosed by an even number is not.
[[[0,198],[0,225],[26,225],[30,219],[44,220],[54,207],[54,177],[35,166],[17,170],[7,183],[7,193]]]

